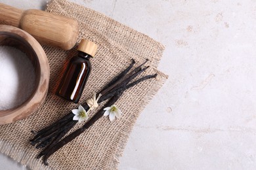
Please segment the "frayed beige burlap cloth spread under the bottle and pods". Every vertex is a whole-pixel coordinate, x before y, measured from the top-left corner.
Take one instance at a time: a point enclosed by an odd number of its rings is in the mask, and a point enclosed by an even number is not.
[[[85,103],[93,92],[98,92],[127,67],[131,58],[137,63],[150,59],[150,69],[144,75],[158,73],[158,76],[123,93],[116,103],[123,112],[120,119],[110,122],[108,117],[102,116],[85,133],[53,154],[49,158],[49,166],[45,167],[41,160],[35,158],[40,150],[30,145],[29,139],[33,137],[30,131],[46,127],[78,107],[54,95],[64,65],[75,55],[78,43],[70,51],[44,46],[51,67],[49,93],[45,103],[29,118],[0,126],[0,151],[31,169],[117,169],[118,157],[123,152],[137,117],[167,79],[166,75],[157,70],[164,47],[134,29],[75,3],[53,0],[46,10],[79,21],[77,42],[89,39],[99,45],[95,58],[91,59],[93,69],[80,103]]]

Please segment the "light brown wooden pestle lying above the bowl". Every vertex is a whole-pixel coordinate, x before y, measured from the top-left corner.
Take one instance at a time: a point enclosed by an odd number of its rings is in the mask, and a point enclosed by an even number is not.
[[[21,10],[0,3],[0,24],[19,27],[38,42],[70,50],[77,41],[78,22],[43,10]]]

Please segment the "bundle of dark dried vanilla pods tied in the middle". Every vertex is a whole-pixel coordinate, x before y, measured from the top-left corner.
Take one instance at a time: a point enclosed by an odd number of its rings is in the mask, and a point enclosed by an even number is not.
[[[60,118],[60,120],[57,120],[50,126],[41,129],[40,131],[32,131],[35,134],[35,137],[30,140],[31,144],[35,146],[35,148],[43,148],[37,158],[41,158],[41,156],[43,156],[43,163],[48,165],[47,159],[54,154],[54,152],[91,127],[103,115],[104,107],[114,105],[125,90],[128,90],[144,80],[155,78],[157,76],[156,74],[138,78],[141,73],[148,69],[148,67],[144,67],[147,61],[148,59],[146,59],[146,61],[144,61],[144,63],[140,64],[138,67],[132,69],[135,65],[135,60],[132,59],[131,64],[129,67],[127,67],[127,69],[117,75],[116,78],[105,86],[105,88],[98,92],[96,94],[97,96],[100,95],[98,103],[102,103],[103,101],[109,99],[108,102],[98,112],[96,112],[96,114],[90,120],[85,122],[81,128],[77,129],[73,133],[66,135],[68,131],[70,131],[70,129],[72,129],[72,127],[74,127],[78,122],[77,120],[73,120],[74,114],[72,112],[63,118]],[[135,80],[135,78],[137,78],[137,80]],[[90,109],[89,105],[87,104],[85,104],[83,107],[85,110]],[[66,137],[64,137],[65,135]]]

